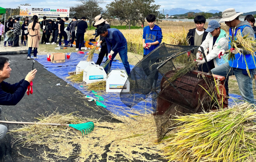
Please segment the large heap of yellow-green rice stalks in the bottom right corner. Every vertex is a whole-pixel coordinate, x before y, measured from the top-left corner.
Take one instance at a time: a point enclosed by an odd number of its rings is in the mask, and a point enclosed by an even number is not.
[[[243,103],[231,109],[176,116],[176,133],[161,154],[175,162],[256,160],[256,109]]]

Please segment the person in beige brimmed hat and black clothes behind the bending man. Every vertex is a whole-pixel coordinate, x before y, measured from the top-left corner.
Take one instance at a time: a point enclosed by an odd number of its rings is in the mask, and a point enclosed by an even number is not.
[[[95,24],[94,26],[96,28],[100,27],[100,26],[104,26],[105,28],[107,29],[110,29],[110,25],[107,21],[105,21],[100,15],[99,16],[96,16],[95,17]],[[94,39],[99,36],[100,34],[96,34],[96,36],[94,37]],[[100,53],[99,53],[99,57],[98,57],[98,60],[96,62],[97,65],[100,65],[104,56],[108,55],[108,50],[107,50],[107,43],[105,41],[105,38],[103,36],[100,36],[100,39],[98,40],[98,44],[97,44],[97,47],[100,47]]]

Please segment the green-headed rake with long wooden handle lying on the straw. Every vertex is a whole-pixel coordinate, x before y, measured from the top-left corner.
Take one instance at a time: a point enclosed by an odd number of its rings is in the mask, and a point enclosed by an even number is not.
[[[67,126],[75,128],[82,132],[82,136],[91,133],[94,129],[94,123],[93,122],[86,122],[81,124],[56,124],[56,123],[44,123],[44,122],[14,122],[14,121],[0,121],[4,123],[11,123],[11,124],[46,124],[51,126]]]

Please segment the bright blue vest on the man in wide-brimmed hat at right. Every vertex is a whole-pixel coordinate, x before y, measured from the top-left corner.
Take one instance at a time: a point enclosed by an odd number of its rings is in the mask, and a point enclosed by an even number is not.
[[[240,29],[241,34],[242,34],[242,31],[246,26],[248,26],[248,25],[239,26],[235,31],[234,38],[237,35],[237,31]],[[248,27],[250,27],[250,26],[248,26]],[[231,28],[229,29],[229,35],[232,36]],[[243,34],[242,34],[242,36],[243,36]],[[229,40],[230,40],[230,37],[229,37]],[[228,44],[229,49],[231,48],[230,44],[231,44],[231,40],[229,41],[229,44]],[[255,55],[252,57],[251,54],[242,55],[240,53],[237,53],[237,54],[235,54],[235,59],[228,61],[228,63],[230,65],[230,67],[239,68],[239,69],[246,69],[245,61],[246,61],[247,66],[248,66],[249,69],[255,69],[256,68],[256,66],[254,64]]]

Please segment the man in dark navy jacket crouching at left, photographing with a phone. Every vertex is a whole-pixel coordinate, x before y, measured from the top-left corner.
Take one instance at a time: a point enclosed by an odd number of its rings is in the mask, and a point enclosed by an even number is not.
[[[0,57],[0,105],[16,105],[25,95],[30,82],[35,78],[37,69],[30,71],[25,79],[18,83],[9,84],[4,82],[5,79],[10,78],[11,67],[9,59]],[[0,113],[2,109],[0,108]],[[0,124],[0,140],[5,137],[7,127]]]

